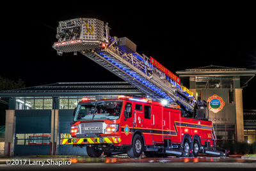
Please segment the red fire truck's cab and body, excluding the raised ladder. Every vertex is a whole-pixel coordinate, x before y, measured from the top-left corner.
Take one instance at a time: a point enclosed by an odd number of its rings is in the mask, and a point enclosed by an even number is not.
[[[147,157],[228,154],[216,151],[211,121],[182,117],[179,105],[132,96],[83,98],[74,111],[71,135],[62,144],[86,147],[93,158],[102,152],[107,156],[126,152],[131,158],[142,152]]]

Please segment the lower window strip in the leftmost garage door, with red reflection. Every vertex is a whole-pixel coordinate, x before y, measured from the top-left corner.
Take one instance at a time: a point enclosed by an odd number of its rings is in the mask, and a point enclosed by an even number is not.
[[[16,145],[49,145],[51,133],[17,133]]]

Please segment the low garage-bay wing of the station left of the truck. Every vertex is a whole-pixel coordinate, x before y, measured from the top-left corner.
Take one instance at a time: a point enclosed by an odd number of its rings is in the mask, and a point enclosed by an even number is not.
[[[86,149],[60,145],[70,136],[74,108],[84,96],[89,100],[144,96],[127,82],[65,82],[2,91],[6,110],[4,155],[86,154]],[[1,147],[1,146],[0,146]]]

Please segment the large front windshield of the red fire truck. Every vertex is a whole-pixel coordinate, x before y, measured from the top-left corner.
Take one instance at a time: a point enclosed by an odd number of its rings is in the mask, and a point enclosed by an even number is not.
[[[78,105],[74,121],[118,119],[121,111],[121,100],[88,101]]]

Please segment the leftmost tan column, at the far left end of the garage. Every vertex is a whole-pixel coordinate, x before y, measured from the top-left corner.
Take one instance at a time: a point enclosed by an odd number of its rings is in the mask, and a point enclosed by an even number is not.
[[[13,156],[14,134],[15,134],[15,110],[6,110],[5,120],[5,138],[4,138],[4,156]],[[8,148],[10,144],[10,149]]]

